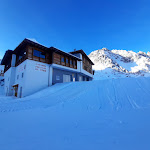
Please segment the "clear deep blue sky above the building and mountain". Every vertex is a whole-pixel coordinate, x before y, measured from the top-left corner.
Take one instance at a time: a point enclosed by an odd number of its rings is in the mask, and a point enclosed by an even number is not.
[[[64,51],[150,51],[149,0],[1,0],[0,58],[24,38]]]

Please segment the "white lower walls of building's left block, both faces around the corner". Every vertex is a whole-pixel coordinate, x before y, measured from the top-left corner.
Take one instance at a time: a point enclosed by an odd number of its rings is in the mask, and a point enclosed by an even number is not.
[[[17,97],[31,95],[52,84],[50,74],[52,74],[52,68],[49,64],[27,59],[5,72],[5,93],[8,96],[14,95],[12,86],[18,84]]]

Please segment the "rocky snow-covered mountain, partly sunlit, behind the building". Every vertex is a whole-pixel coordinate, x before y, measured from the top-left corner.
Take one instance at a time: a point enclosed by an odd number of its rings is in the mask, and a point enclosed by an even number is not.
[[[89,58],[95,64],[95,79],[150,76],[150,52],[102,48],[91,52]]]

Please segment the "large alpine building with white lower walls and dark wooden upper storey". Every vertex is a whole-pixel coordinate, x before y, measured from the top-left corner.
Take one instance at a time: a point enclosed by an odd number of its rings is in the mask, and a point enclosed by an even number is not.
[[[24,47],[25,50],[23,50]],[[32,59],[30,55],[31,47]],[[39,48],[43,49],[40,50]],[[38,57],[37,51],[41,53],[41,56]],[[54,53],[57,53],[57,55],[54,55]],[[8,54],[2,60],[5,65],[4,86],[6,96],[14,95],[21,98],[56,83],[92,80],[91,66],[86,71],[83,68],[83,54],[81,52],[76,53],[79,57],[56,49],[54,51],[25,39],[12,52],[11,60],[8,61]],[[92,65],[92,62],[90,63]]]

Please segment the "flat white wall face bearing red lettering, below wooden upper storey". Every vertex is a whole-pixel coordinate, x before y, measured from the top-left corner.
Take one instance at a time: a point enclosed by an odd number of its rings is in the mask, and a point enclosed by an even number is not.
[[[33,60],[26,60],[25,85],[23,96],[30,95],[49,86],[50,65]]]

